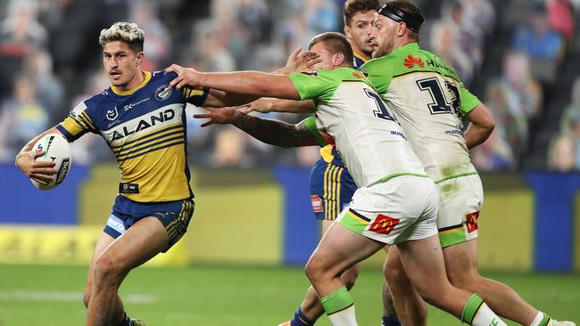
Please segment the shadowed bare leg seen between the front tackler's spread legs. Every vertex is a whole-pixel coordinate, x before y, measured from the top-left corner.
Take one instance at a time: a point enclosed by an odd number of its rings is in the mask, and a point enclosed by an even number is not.
[[[390,285],[394,297],[394,307],[402,324],[405,326],[427,325],[427,303],[418,295],[417,290],[407,277],[402,268],[399,250],[395,246],[391,247],[389,251],[383,272],[385,280]],[[386,290],[388,291],[388,288]]]

